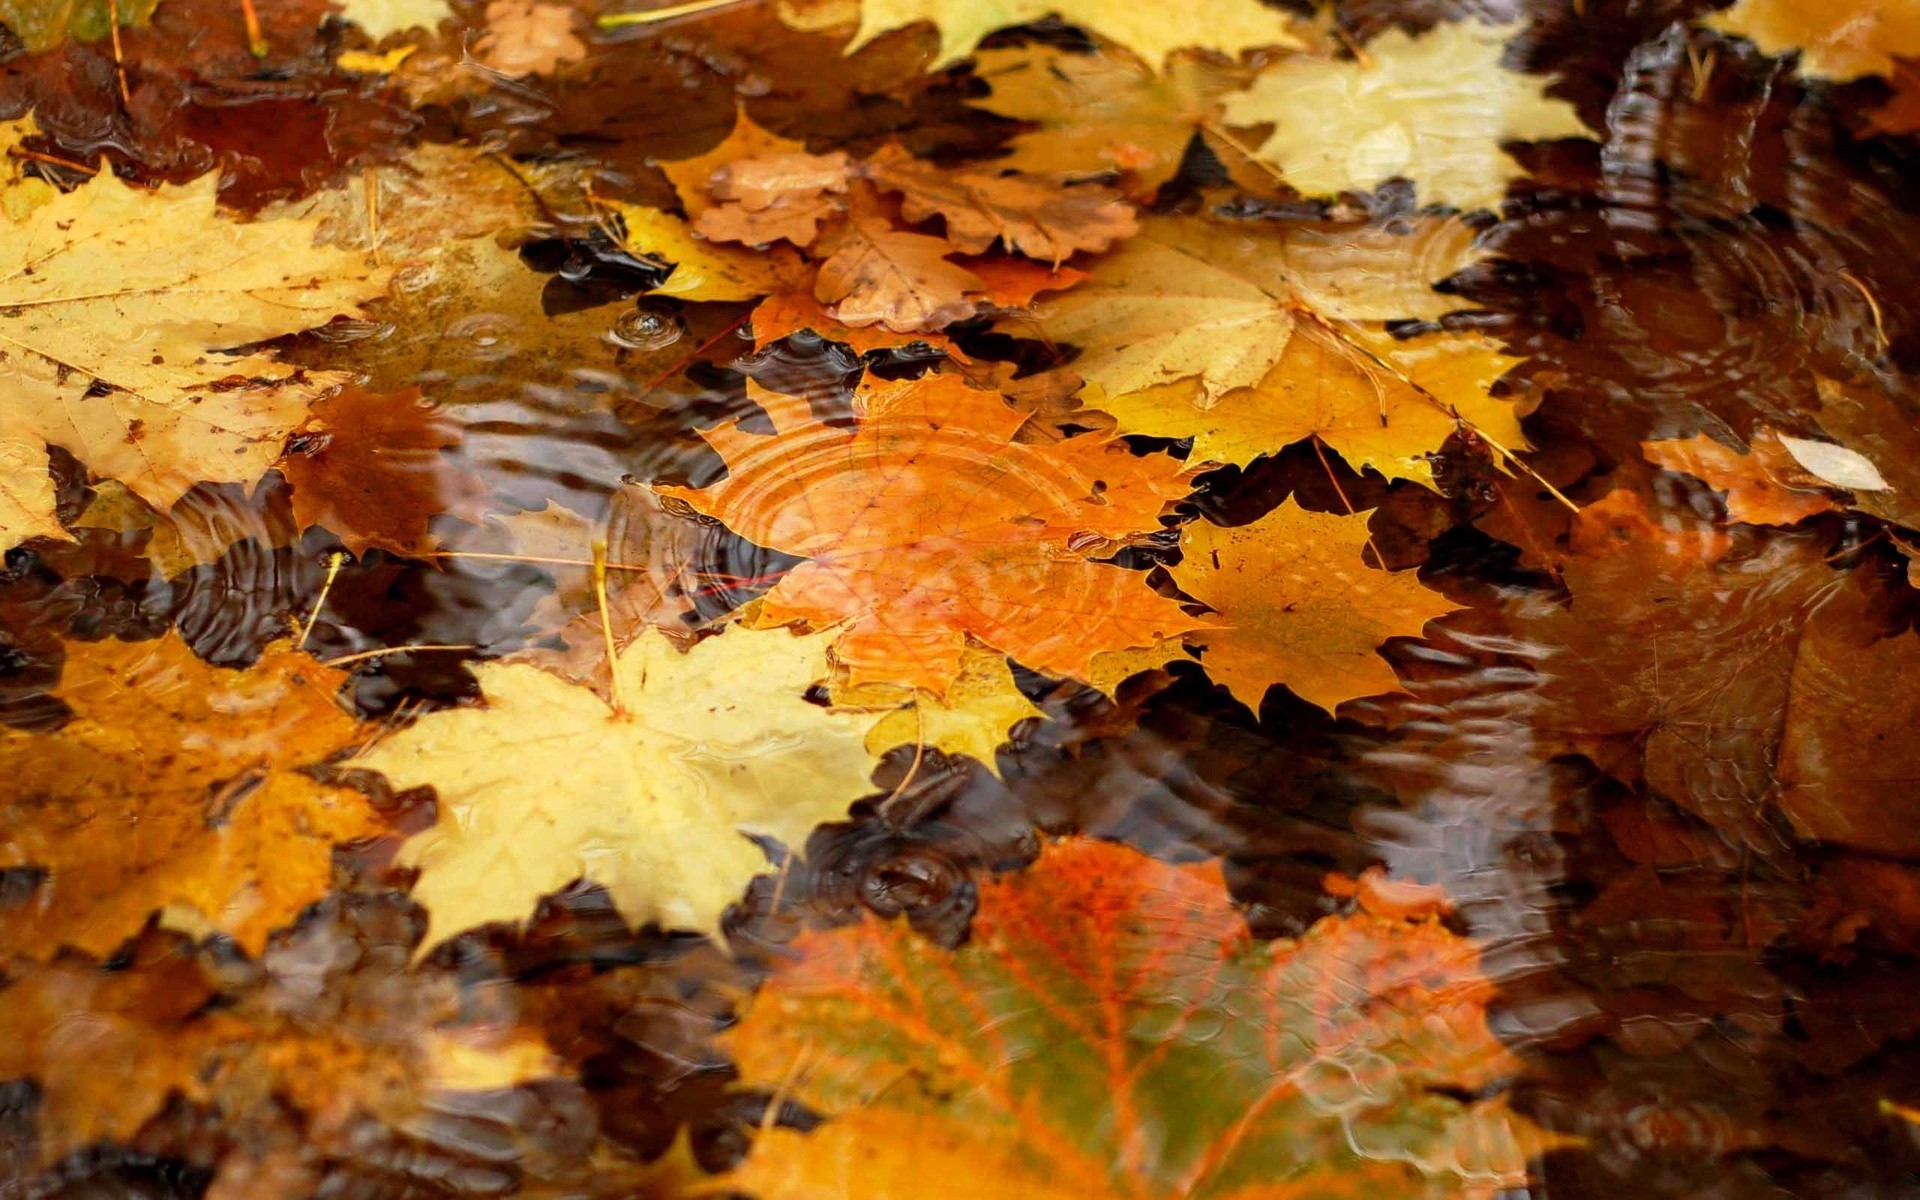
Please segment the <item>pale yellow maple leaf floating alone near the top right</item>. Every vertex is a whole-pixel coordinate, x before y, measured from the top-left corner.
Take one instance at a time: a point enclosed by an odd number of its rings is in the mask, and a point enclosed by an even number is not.
[[[1231,125],[1273,125],[1260,157],[1309,196],[1411,179],[1425,204],[1498,207],[1526,171],[1501,142],[1590,136],[1546,79],[1500,65],[1519,25],[1390,29],[1365,61],[1290,58],[1225,100]]]

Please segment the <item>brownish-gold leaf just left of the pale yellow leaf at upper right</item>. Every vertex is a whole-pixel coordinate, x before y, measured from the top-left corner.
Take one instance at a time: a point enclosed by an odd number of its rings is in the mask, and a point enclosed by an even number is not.
[[[1235,86],[1233,73],[1181,54],[1160,73],[1117,54],[1073,54],[1027,44],[981,50],[973,75],[993,86],[973,108],[1029,121],[995,165],[1031,173],[1125,171],[1131,194],[1150,196],[1173,179],[1194,132]]]

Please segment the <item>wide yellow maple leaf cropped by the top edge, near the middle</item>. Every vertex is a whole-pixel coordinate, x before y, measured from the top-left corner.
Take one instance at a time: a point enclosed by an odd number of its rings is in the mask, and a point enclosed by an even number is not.
[[[948,67],[995,29],[1060,17],[1125,46],[1150,67],[1183,46],[1240,54],[1260,46],[1298,48],[1288,19],[1258,0],[1217,0],[1204,10],[1177,6],[1116,6],[1108,0],[860,0],[860,29],[847,54],[879,35],[929,21],[941,46],[929,71]]]

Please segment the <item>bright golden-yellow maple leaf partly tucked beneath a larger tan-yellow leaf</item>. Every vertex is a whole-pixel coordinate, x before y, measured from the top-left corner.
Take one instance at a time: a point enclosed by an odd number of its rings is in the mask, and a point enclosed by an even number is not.
[[[1434,488],[1430,455],[1461,426],[1503,449],[1528,447],[1513,403],[1490,394],[1517,363],[1480,334],[1396,340],[1304,324],[1258,384],[1215,401],[1200,380],[1181,380],[1087,403],[1112,413],[1125,434],[1192,438],[1196,463],[1244,467],[1319,438],[1356,470]]]

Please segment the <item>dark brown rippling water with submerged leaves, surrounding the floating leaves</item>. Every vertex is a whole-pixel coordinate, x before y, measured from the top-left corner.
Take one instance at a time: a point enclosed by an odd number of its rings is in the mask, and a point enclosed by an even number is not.
[[[584,157],[609,194],[670,204],[649,161],[712,146],[739,98],[816,148],[899,140],[958,159],[1016,129],[964,106],[981,94],[964,67],[918,75],[925,46],[912,38],[826,71],[839,61],[833,38],[755,8],[599,33],[559,79],[411,106],[397,84],[330,65],[359,35],[323,27],[317,8],[261,6],[276,38],[261,65],[223,6],[163,0],[156,33],[131,50],[148,63],[136,67],[140,104],[113,100],[104,42],[17,52],[0,63],[0,94],[38,111],[36,144],[54,159],[111,161],[142,180],[223,169],[225,200],[242,209],[419,144],[486,146],[518,163]],[[1546,482],[1576,505],[1628,493],[1638,516],[1582,534],[1536,480],[1503,476],[1459,442],[1436,463],[1438,492],[1327,467],[1306,445],[1210,472],[1190,511],[1223,524],[1286,495],[1317,511],[1379,509],[1380,557],[1465,605],[1425,639],[1388,645],[1405,695],[1352,703],[1336,720],[1284,689],[1250,712],[1196,664],[1114,701],[1018,670],[1046,720],[1016,730],[998,774],[889,755],[874,799],[818,829],[778,889],[762,877],[732,910],[739,960],[707,939],[630,929],[591,883],[551,897],[524,931],[490,927],[434,950],[430,968],[463,985],[511,983],[520,1020],[547,1033],[578,1087],[520,1089],[440,1127],[369,1135],[363,1154],[332,1162],[319,1194],[501,1194],[538,1156],[586,1156],[595,1137],[655,1156],[687,1131],[703,1164],[726,1165],[766,1096],[732,1087],[712,1035],[801,925],[904,914],[950,945],[966,935],[977,881],[1029,862],[1048,835],[1085,833],[1223,860],[1263,937],[1340,910],[1329,874],[1384,866],[1442,887],[1500,987],[1492,1025],[1524,1060],[1515,1108],[1582,1139],[1549,1154],[1526,1194],[1920,1196],[1920,1125],[1901,1116],[1920,1108],[1920,691],[1899,672],[1916,637],[1907,547],[1920,534],[1845,505],[1791,528],[1730,522],[1720,492],[1642,451],[1701,432],[1749,440],[1761,426],[1841,436],[1818,378],[1882,397],[1843,440],[1901,463],[1920,451],[1920,142],[1868,119],[1889,98],[1885,81],[1811,81],[1789,60],[1688,25],[1711,8],[1332,6],[1357,44],[1444,19],[1532,21],[1509,65],[1553,75],[1553,94],[1596,136],[1509,148],[1530,175],[1500,213],[1475,217],[1486,259],[1446,284],[1461,311],[1442,324],[1524,359],[1503,388],[1536,403],[1528,463]],[[455,10],[480,21],[478,6]],[[991,44],[1025,38],[1085,44],[1058,23]],[[1227,165],[1196,144],[1158,204],[1194,211],[1227,182]],[[1271,219],[1319,211],[1252,204]],[[1388,184],[1348,204],[1390,219],[1409,211],[1411,192]],[[538,290],[499,311],[376,311],[284,340],[280,353],[355,371],[374,392],[422,386],[461,424],[449,457],[488,482],[501,511],[557,503],[589,518],[632,484],[720,478],[699,430],[755,413],[749,378],[824,409],[849,401],[862,369],[927,369],[912,349],[862,361],[810,334],[756,351],[743,305],[641,296],[659,269],[588,217],[551,213],[549,234],[518,250]],[[561,330],[568,321],[578,330]],[[983,324],[954,332],[981,357],[1050,365],[1044,348],[1010,346]],[[98,480],[61,451],[52,467],[71,524]],[[317,659],[468,647],[353,662],[361,718],[461,705],[476,697],[474,662],[541,636],[536,605],[557,586],[540,563],[380,549],[349,555],[328,582],[344,545],[298,528],[276,474],[252,490],[205,484],[175,518],[219,530],[209,536],[228,547],[177,572],[156,566],[144,532],[77,528],[73,543],[8,553],[8,726],[67,720],[54,687],[71,643],[171,630],[207,662],[246,666],[305,622],[323,589],[303,641]],[[436,532],[478,555],[501,545],[457,518]],[[1670,547],[1707,538],[1728,540],[1715,570],[1670,566],[1684,559]],[[1144,568],[1173,547],[1133,553]],[[695,624],[722,620],[791,566],[720,524],[685,555]],[[564,783],[561,766],[553,785]],[[428,820],[424,797],[386,799],[417,828]],[[355,979],[357,1004],[397,1004],[378,981],[405,977],[419,914],[390,860],[392,847],[342,851],[336,895],[273,952],[324,958],[313,970]],[[19,889],[31,893],[31,872],[0,874],[0,904]],[[188,952],[167,937],[150,931],[138,954]],[[363,956],[346,962],[323,943]],[[230,947],[213,954],[228,983],[253,970]],[[213,1177],[225,1135],[190,1106],[132,1142],[40,1171],[29,1133],[38,1104],[33,1083],[0,1087],[0,1142],[12,1144],[0,1196],[198,1196]]]

